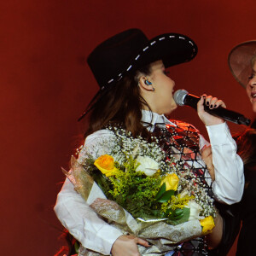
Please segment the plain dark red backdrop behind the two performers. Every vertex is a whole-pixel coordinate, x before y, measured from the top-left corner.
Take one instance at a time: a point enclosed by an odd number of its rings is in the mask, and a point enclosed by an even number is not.
[[[234,45],[256,38],[255,11],[255,0],[1,1],[1,254],[53,255],[63,244],[52,209],[61,166],[68,168],[79,145],[77,118],[98,89],[86,64],[96,44],[131,27],[148,38],[184,33],[199,53],[170,69],[176,89],[218,96],[252,118],[227,56]],[[173,117],[206,135],[194,110],[183,107]]]

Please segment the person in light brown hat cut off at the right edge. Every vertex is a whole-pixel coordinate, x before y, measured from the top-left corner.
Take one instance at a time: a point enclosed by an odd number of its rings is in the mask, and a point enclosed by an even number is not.
[[[253,113],[256,113],[256,40],[236,45],[228,58],[230,71],[236,81],[246,89]],[[239,203],[242,226],[236,255],[256,255],[254,233],[256,229],[256,121],[236,135],[237,153],[244,163],[245,189]]]

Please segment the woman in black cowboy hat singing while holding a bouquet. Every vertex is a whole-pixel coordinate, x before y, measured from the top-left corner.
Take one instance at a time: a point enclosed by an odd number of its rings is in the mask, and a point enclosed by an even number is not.
[[[232,204],[241,200],[243,191],[241,159],[224,120],[206,113],[203,106],[204,100],[209,108],[225,107],[224,102],[207,95],[201,96],[198,102],[199,117],[207,126],[212,143],[215,172],[212,178],[200,154],[201,148],[209,145],[207,141],[194,126],[166,119],[177,108],[172,97],[175,84],[166,75],[166,68],[190,61],[196,53],[195,43],[184,35],[167,33],[148,40],[138,29],[120,32],[98,45],[88,57],[100,90],[82,116],[90,113],[84,147],[89,148],[95,159],[108,154],[111,142],[108,125],[118,124],[131,131],[133,137],[141,136],[148,141],[154,135],[159,138],[166,158],[175,154],[184,160],[190,172],[196,173],[204,183],[209,195],[213,192],[214,199]],[[107,143],[99,147],[99,141]],[[82,149],[78,161],[83,163],[84,157]],[[66,179],[55,205],[61,224],[82,245],[84,254],[80,250],[79,255],[139,255],[137,245],[151,247],[148,241],[124,235],[99,218],[89,206],[97,195],[91,197],[85,202],[74,190],[73,183]],[[209,236],[213,246],[221,238],[221,224],[218,216],[216,227]],[[163,249],[155,255],[207,255],[207,240],[201,237],[177,242],[177,247],[167,253],[168,249]]]

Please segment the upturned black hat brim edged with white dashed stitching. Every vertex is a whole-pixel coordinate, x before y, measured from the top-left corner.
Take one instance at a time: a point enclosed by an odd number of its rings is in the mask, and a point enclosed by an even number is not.
[[[119,73],[119,76],[108,80],[108,84],[115,84],[125,74],[136,71],[138,68],[154,61],[162,60],[165,67],[172,67],[183,62],[191,61],[197,54],[195,42],[178,33],[166,33],[157,36],[140,49],[136,55],[131,56],[129,65]],[[102,89],[104,89],[103,86]]]

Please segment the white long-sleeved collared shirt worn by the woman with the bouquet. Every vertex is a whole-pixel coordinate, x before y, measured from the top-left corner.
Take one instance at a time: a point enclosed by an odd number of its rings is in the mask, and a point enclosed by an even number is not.
[[[153,125],[148,126],[148,131],[153,131],[156,123],[172,124],[164,115],[146,110],[143,110],[142,121]],[[243,163],[236,154],[236,143],[230,135],[229,127],[226,123],[211,125],[207,126],[207,132],[212,145],[212,162],[215,171],[212,191],[215,199],[226,204],[241,201],[244,187]],[[108,141],[111,136],[113,134],[108,130],[96,131],[86,138],[84,146],[90,148],[90,153],[95,158],[108,154],[108,143],[105,143],[106,148],[97,148],[96,145],[98,141]],[[200,135],[200,148],[207,144],[209,143]],[[82,149],[79,162],[83,162],[83,157]],[[209,177],[209,174],[206,173],[206,176]],[[90,202],[93,200],[90,198]],[[99,218],[73,189],[73,184],[67,178],[58,194],[54,210],[61,224],[70,234],[84,247],[98,253],[109,255],[113,242],[123,235],[120,230]]]

